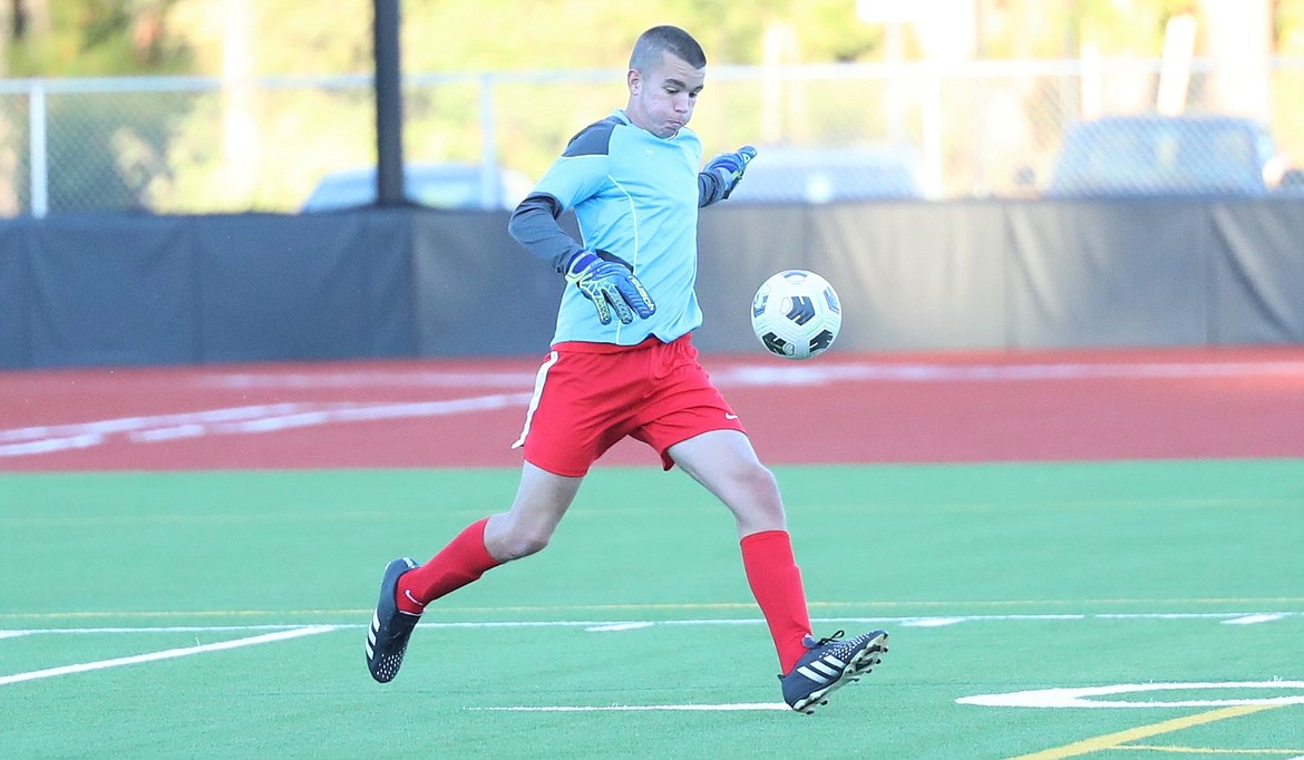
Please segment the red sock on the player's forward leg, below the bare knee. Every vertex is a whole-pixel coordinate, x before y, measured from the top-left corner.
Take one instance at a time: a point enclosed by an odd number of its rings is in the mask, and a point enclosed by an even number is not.
[[[778,666],[781,673],[789,673],[806,653],[802,639],[811,632],[802,571],[793,558],[792,540],[788,531],[762,531],[743,536],[739,545],[747,584],[775,639]]]

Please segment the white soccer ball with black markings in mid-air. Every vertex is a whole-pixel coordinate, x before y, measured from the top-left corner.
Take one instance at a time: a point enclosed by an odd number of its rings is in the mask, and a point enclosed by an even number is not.
[[[751,300],[751,329],[775,356],[819,356],[833,345],[841,327],[837,292],[811,271],[781,271],[762,283]]]

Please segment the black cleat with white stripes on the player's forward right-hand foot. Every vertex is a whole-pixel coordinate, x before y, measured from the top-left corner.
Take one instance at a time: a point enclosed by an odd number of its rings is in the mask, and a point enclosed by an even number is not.
[[[888,632],[870,631],[854,639],[842,640],[842,631],[816,641],[806,636],[802,641],[806,654],[797,661],[792,673],[780,675],[784,701],[799,713],[811,714],[816,705],[828,704],[828,695],[842,684],[859,680],[883,661],[888,650]]]

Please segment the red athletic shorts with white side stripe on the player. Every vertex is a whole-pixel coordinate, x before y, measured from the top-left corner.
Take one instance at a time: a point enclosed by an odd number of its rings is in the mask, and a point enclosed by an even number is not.
[[[631,435],[670,469],[666,450],[709,430],[743,428],[698,364],[689,335],[638,345],[558,343],[539,368],[526,428],[512,448],[524,446],[526,461],[535,467],[582,477]]]

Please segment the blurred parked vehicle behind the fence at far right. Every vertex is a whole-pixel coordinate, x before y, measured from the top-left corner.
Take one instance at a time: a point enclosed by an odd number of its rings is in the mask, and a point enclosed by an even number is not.
[[[1050,197],[1262,196],[1304,186],[1267,126],[1236,116],[1107,116],[1071,125]]]

